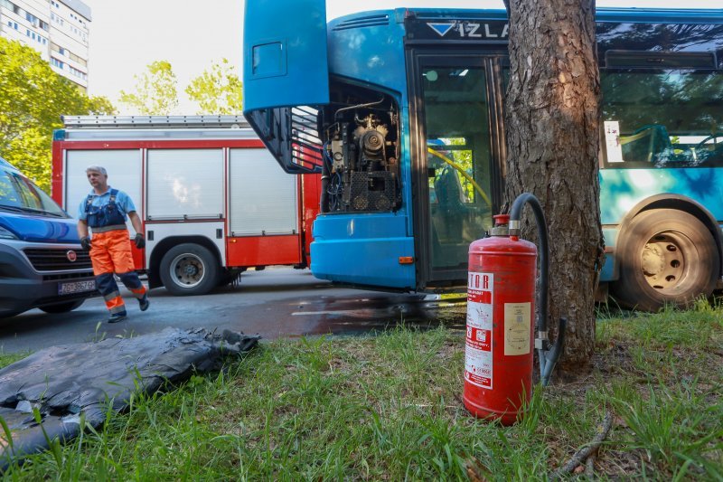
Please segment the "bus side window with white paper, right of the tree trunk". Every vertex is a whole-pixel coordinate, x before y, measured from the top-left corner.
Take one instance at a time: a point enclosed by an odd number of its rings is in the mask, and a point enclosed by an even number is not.
[[[605,167],[723,165],[723,76],[601,71]]]

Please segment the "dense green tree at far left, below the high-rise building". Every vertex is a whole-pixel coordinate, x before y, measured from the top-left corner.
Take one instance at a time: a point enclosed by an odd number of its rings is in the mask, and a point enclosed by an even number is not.
[[[52,71],[40,54],[0,38],[0,156],[50,193],[52,131],[61,115],[113,114],[108,99],[88,97]]]

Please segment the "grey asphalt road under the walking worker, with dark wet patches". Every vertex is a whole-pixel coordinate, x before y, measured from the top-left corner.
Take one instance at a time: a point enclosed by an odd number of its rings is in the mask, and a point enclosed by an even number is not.
[[[106,323],[101,298],[60,315],[38,309],[0,319],[0,351],[35,351],[52,345],[87,342],[101,337],[155,333],[167,326],[230,329],[279,336],[357,335],[399,323],[416,326],[465,325],[465,306],[421,295],[399,295],[335,288],[315,279],[308,269],[249,271],[237,286],[201,297],[174,297],[164,288],[150,292],[151,307],[141,312],[136,299],[122,291],[127,320]]]

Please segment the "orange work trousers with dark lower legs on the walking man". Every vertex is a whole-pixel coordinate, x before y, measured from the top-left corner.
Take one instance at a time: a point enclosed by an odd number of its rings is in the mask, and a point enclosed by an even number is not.
[[[136,273],[127,230],[94,232],[90,260],[93,263],[96,286],[111,314],[126,312],[126,305],[123,303],[123,298],[120,298],[114,273],[134,297],[141,299],[146,296],[146,288]]]

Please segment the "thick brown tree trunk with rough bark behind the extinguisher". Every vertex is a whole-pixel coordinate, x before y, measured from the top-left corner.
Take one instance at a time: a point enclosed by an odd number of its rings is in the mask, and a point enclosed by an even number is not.
[[[549,227],[549,317],[568,318],[560,363],[587,364],[595,349],[600,227],[595,0],[511,0],[506,98],[509,202],[540,199]],[[536,237],[531,210],[523,235]]]

